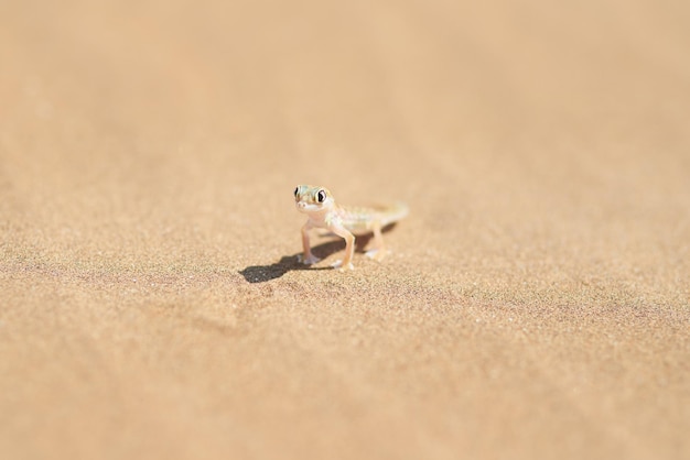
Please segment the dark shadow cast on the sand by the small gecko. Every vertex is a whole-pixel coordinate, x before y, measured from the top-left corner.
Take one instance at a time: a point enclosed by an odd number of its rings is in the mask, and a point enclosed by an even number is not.
[[[386,226],[381,229],[382,232],[387,232],[392,229],[395,223]],[[371,234],[358,236],[355,239],[355,252],[365,252],[365,247],[371,240]],[[325,259],[334,252],[345,249],[345,240],[337,239],[334,241],[327,241],[312,248],[312,252],[319,259]],[[304,265],[299,261],[298,252],[293,255],[283,255],[280,261],[270,265],[249,265],[245,270],[240,270],[239,274],[245,277],[248,283],[266,283],[271,280],[276,280],[292,270],[333,270],[332,266],[310,266]]]

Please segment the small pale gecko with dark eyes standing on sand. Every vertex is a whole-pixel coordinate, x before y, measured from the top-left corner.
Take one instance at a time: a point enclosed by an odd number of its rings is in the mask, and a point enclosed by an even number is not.
[[[370,208],[341,206],[327,188],[313,185],[299,185],[294,189],[294,202],[298,210],[309,217],[302,227],[304,254],[300,258],[301,262],[306,265],[319,262],[320,259],[312,254],[309,231],[326,229],[345,240],[345,256],[333,264],[341,270],[354,270],[355,234],[374,233],[374,249],[367,251],[367,255],[384,259],[386,249],[381,229],[408,213],[407,206],[402,204]]]

